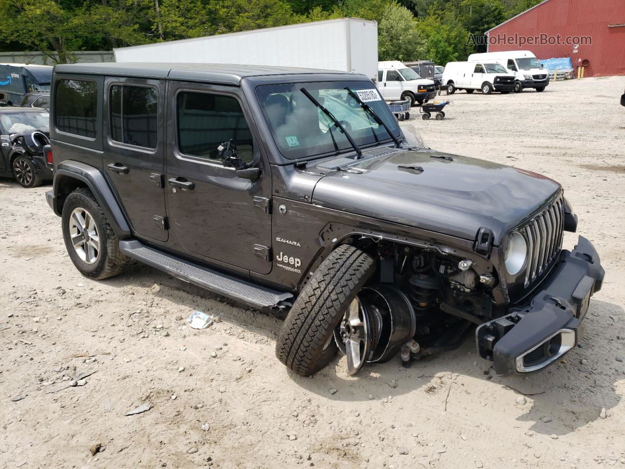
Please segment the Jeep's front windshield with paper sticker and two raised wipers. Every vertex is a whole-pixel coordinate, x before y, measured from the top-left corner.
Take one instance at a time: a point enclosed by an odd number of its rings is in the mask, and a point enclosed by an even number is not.
[[[300,91],[301,88],[305,88],[336,117],[359,147],[390,141],[391,136],[345,88],[351,89],[361,101],[369,104],[396,137],[400,135],[397,120],[370,82],[333,81],[259,86],[256,88],[256,96],[274,141],[285,158],[301,159],[352,150],[345,134]]]

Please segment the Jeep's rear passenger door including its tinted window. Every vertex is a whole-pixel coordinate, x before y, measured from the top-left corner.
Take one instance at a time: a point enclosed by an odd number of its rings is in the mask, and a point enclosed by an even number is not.
[[[133,232],[168,240],[164,189],[164,96],[159,80],[107,78],[104,83],[104,174]]]

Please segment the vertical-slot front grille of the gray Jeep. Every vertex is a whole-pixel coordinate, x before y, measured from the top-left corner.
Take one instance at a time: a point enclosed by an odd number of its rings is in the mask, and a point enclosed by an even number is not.
[[[560,255],[564,231],[564,199],[556,199],[520,231],[527,241],[525,286],[528,286]]]

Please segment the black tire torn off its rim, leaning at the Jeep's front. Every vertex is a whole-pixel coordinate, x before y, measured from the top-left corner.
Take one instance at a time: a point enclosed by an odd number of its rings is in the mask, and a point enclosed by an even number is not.
[[[326,366],[336,354],[334,328],[375,270],[374,259],[354,246],[332,251],[286,316],[276,341],[278,360],[301,376]]]

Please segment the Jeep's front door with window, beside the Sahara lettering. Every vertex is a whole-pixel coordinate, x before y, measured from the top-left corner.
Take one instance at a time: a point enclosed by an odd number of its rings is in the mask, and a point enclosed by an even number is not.
[[[241,90],[170,82],[168,96],[166,187],[176,239],[189,255],[269,273],[271,173]],[[261,169],[259,179],[224,166],[225,143],[242,164]]]

